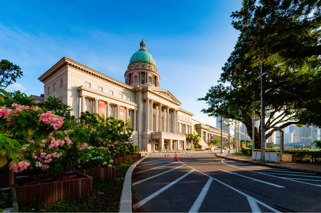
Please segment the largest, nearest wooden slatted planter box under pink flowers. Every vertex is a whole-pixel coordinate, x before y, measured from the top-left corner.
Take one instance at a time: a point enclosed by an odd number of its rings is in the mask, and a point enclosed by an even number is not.
[[[23,204],[29,204],[34,198],[44,200],[45,203],[54,203],[61,199],[80,199],[91,196],[92,177],[78,172],[81,179],[64,180],[36,185],[18,186],[18,181],[29,179],[30,176],[16,177],[15,189],[18,200]],[[50,175],[41,175],[50,176]]]

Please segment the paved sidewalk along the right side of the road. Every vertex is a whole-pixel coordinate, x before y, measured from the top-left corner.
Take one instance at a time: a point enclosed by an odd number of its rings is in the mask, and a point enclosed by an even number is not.
[[[274,168],[287,168],[292,170],[312,172],[312,173],[321,175],[321,165],[318,165],[318,164],[303,164],[303,163],[291,163],[291,162],[282,162],[282,163],[263,162],[258,160],[252,160],[252,158],[248,158],[244,156],[236,156],[231,153],[216,153],[215,155],[220,158],[241,161],[241,162],[251,163],[255,165],[270,166]]]

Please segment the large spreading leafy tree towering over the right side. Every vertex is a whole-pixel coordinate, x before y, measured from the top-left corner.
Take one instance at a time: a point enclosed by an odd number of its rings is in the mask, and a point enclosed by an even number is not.
[[[265,82],[266,126],[321,126],[321,2],[315,0],[243,0],[231,17],[240,36],[222,68],[219,85],[204,98],[209,116],[241,121],[252,137],[252,101],[260,117],[260,64]],[[228,85],[228,86],[226,86]],[[254,98],[253,98],[254,97]],[[260,129],[260,128],[259,128]],[[256,147],[260,130],[255,128]],[[265,138],[272,131],[268,130]]]

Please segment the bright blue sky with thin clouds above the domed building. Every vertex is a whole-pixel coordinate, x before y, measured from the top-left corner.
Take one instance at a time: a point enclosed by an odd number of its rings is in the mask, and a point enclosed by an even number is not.
[[[119,81],[144,38],[168,89],[194,119],[215,125],[197,98],[217,84],[239,32],[231,25],[241,0],[3,1],[0,59],[22,68],[9,89],[44,93],[38,77],[63,56]]]

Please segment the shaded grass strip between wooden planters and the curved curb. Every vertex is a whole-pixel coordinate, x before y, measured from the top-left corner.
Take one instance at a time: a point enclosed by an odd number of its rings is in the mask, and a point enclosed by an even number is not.
[[[92,195],[88,199],[59,200],[44,204],[33,200],[28,206],[19,205],[20,212],[119,212],[120,197],[128,168],[140,158],[116,165],[116,178],[92,182]],[[103,192],[99,194],[98,192]]]

